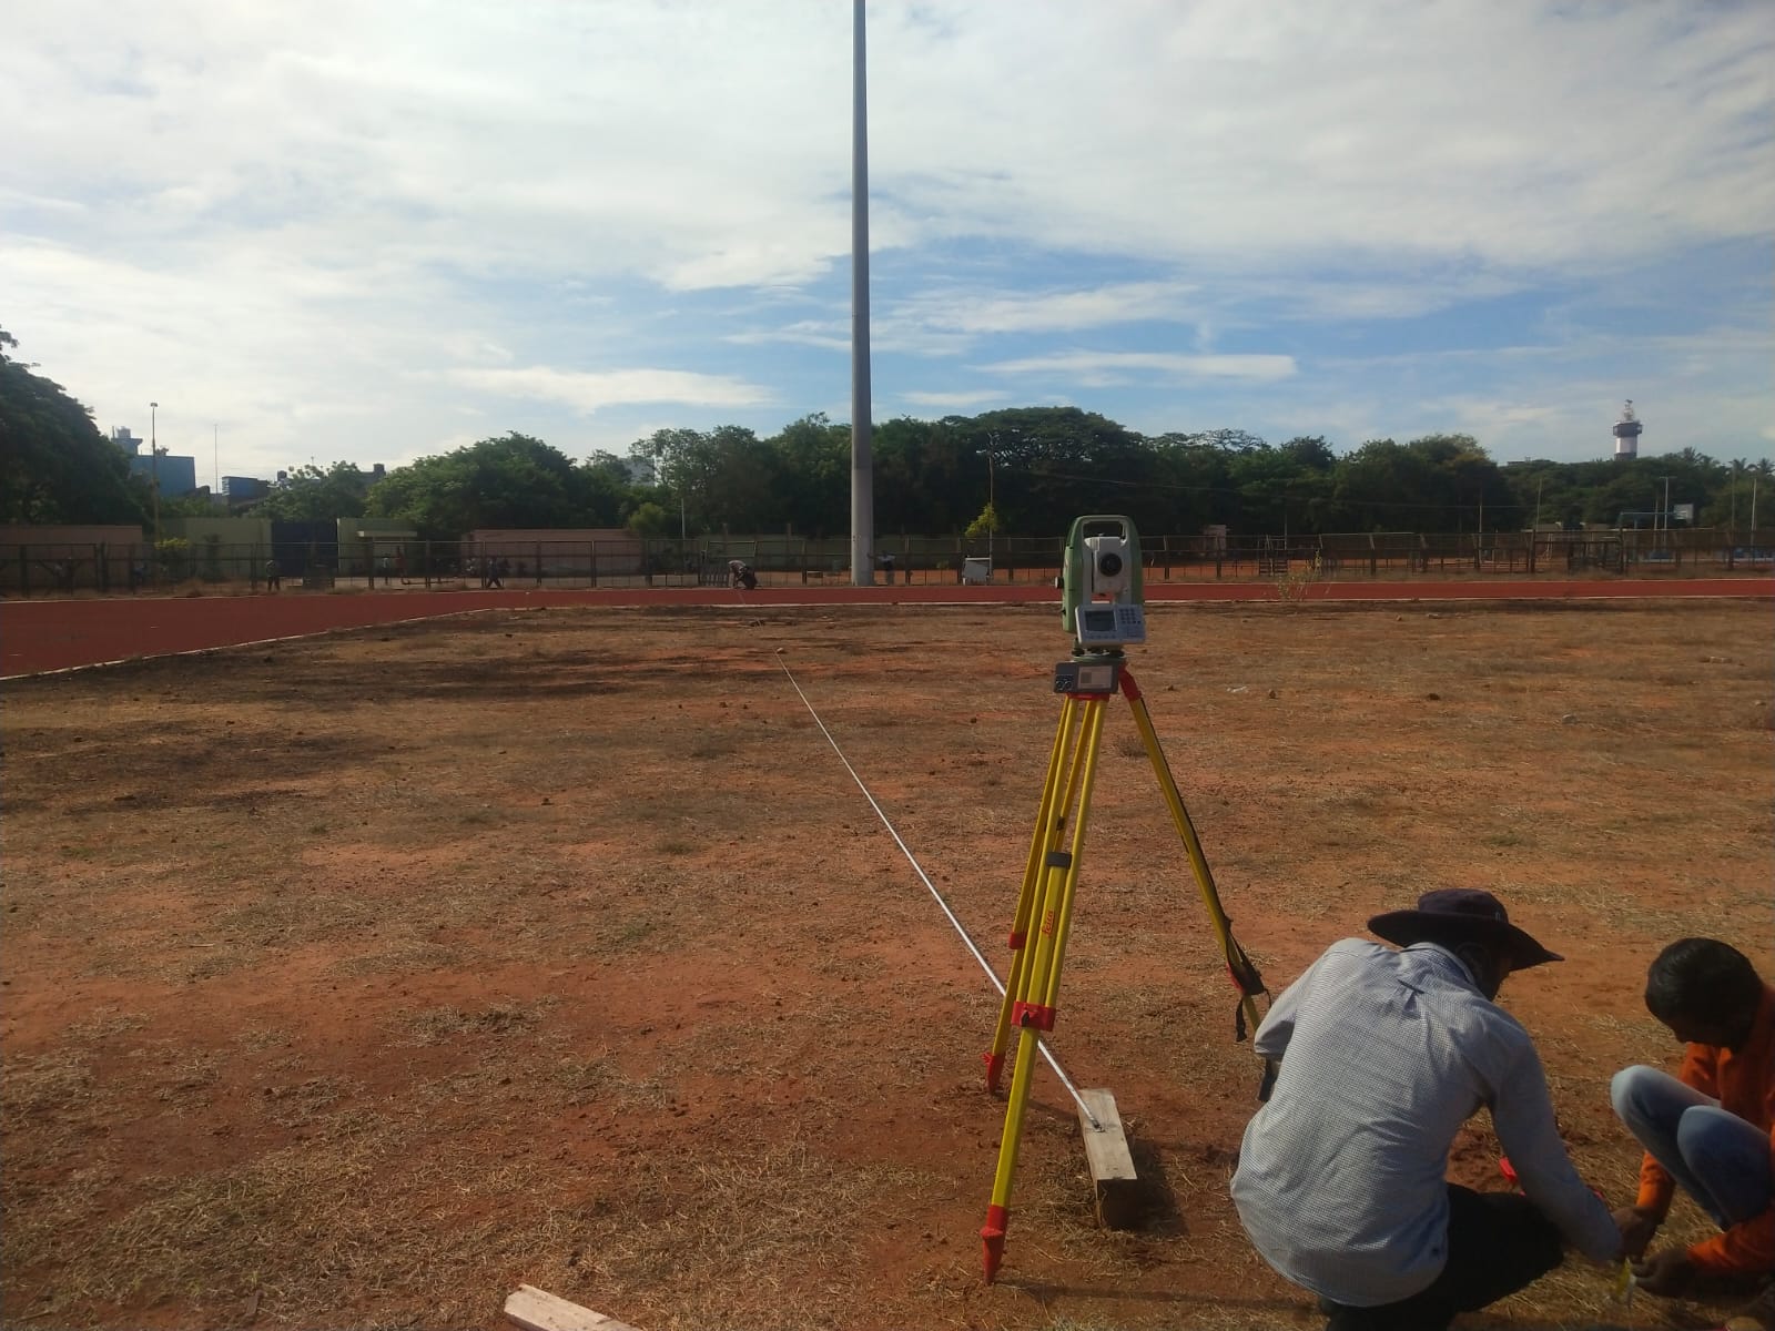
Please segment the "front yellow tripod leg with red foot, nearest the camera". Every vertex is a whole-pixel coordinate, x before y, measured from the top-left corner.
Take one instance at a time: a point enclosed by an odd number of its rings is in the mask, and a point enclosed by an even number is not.
[[[1049,850],[1042,864],[1040,928],[1030,965],[1022,976],[1017,1001],[1012,1004],[1012,1024],[1017,1033],[1017,1068],[1012,1072],[1010,1095],[1005,1104],[1005,1130],[999,1136],[998,1173],[992,1178],[992,1201],[987,1205],[987,1223],[980,1228],[982,1258],[987,1281],[998,1274],[1005,1256],[1005,1232],[1010,1225],[1010,1189],[1017,1173],[1017,1146],[1022,1139],[1022,1116],[1030,1102],[1030,1081],[1035,1075],[1037,1044],[1042,1031],[1054,1029],[1054,999],[1060,992],[1060,965],[1065,957],[1074,889],[1079,882],[1079,862],[1085,855],[1086,807],[1097,779],[1097,754],[1102,742],[1102,697],[1081,703],[1077,747],[1072,774],[1067,781],[1067,807],[1077,799],[1072,816],[1072,845],[1069,850]]]

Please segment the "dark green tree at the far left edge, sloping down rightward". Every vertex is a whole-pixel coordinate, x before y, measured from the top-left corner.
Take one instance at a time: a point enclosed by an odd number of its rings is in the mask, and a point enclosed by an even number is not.
[[[60,383],[32,374],[0,328],[0,522],[142,524],[147,484]]]

